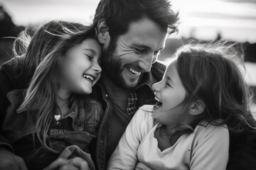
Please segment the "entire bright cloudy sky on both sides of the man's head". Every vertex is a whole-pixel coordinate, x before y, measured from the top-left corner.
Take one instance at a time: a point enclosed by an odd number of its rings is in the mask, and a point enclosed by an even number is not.
[[[91,23],[100,0],[0,0],[19,26],[65,19]],[[218,33],[238,42],[256,42],[256,0],[171,0],[180,13],[174,37],[212,40]]]

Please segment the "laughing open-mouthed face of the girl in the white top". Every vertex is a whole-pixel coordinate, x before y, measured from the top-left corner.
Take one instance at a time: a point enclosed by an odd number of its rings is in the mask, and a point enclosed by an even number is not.
[[[176,69],[176,61],[169,64],[164,78],[153,85],[156,101],[153,117],[166,126],[183,125],[188,113],[183,111],[186,90]]]

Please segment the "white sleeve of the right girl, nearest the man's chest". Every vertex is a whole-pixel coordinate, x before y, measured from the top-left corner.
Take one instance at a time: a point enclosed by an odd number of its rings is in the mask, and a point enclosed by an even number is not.
[[[137,149],[143,137],[143,115],[144,111],[140,108],[114,149],[107,169],[134,169],[137,164]]]

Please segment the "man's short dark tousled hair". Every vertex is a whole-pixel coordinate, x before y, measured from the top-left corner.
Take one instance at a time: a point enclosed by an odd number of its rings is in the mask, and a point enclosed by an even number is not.
[[[111,38],[127,32],[130,23],[147,17],[166,33],[178,31],[178,13],[171,10],[167,0],[101,0],[97,6],[93,25],[105,20]]]

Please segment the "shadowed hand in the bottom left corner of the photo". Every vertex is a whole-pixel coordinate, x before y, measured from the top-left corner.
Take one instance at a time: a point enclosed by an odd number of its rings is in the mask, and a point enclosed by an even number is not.
[[[21,157],[0,147],[0,169],[28,170]]]

